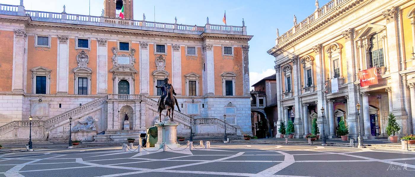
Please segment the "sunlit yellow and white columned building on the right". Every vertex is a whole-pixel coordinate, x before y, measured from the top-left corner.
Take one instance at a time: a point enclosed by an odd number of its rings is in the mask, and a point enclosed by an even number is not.
[[[360,126],[372,139],[388,136],[391,112],[399,136],[415,133],[414,46],[413,0],[331,0],[295,19],[288,32],[277,30],[268,51],[276,59],[277,125],[292,120],[294,137],[303,137],[317,119],[320,133],[324,128],[336,138],[344,119],[349,137],[357,137]],[[359,71],[374,67],[378,83],[362,87]]]

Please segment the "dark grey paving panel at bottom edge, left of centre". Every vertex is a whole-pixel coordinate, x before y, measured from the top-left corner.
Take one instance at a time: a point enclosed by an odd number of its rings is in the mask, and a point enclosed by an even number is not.
[[[34,172],[20,172],[25,177],[95,177],[102,175],[112,175],[117,173],[134,172],[136,170],[90,167],[63,170],[45,170]],[[59,174],[59,175],[58,175]]]

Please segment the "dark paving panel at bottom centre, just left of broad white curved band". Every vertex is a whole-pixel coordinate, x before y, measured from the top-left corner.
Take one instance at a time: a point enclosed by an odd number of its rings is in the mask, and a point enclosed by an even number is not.
[[[277,162],[212,162],[188,167],[173,168],[171,170],[258,173],[277,164]]]

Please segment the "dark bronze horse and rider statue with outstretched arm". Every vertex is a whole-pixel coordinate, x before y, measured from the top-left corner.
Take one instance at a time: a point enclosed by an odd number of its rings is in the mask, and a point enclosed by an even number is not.
[[[170,121],[173,122],[173,111],[174,111],[175,104],[177,106],[178,111],[181,112],[177,99],[176,97],[174,97],[174,95],[176,95],[176,92],[174,92],[173,85],[168,83],[168,78],[164,78],[164,84],[156,85],[156,88],[161,89],[161,96],[158,102],[159,109],[157,110],[157,112],[159,112],[160,122],[161,122],[161,112],[164,109],[166,109],[166,112],[167,112],[166,116],[169,116]]]

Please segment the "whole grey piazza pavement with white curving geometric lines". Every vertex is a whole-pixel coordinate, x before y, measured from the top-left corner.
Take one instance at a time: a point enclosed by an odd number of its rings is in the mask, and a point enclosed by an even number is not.
[[[149,148],[138,153],[100,147],[8,153],[0,155],[0,177],[415,176],[413,152],[255,144],[197,148]]]

